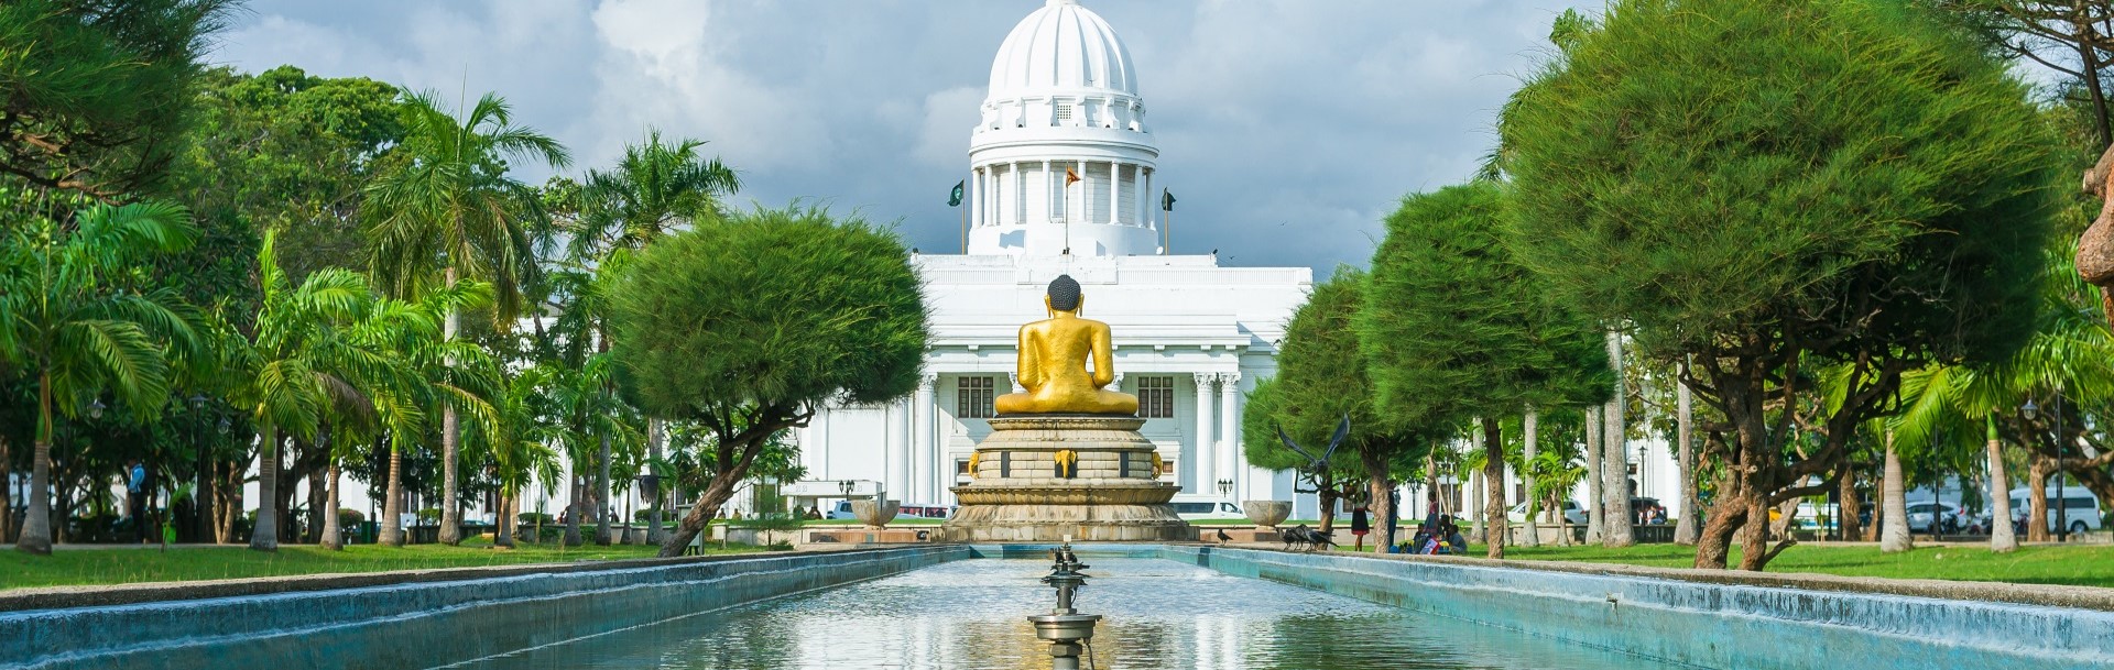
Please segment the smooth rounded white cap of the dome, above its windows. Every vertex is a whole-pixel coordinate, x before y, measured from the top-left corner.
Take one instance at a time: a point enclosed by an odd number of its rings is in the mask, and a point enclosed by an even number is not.
[[[1021,19],[991,61],[991,97],[1114,91],[1137,95],[1131,51],[1078,0],[1049,0]]]

